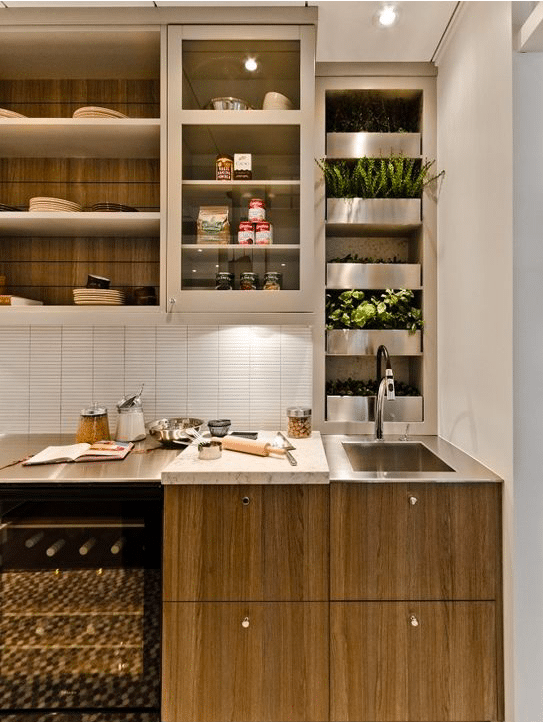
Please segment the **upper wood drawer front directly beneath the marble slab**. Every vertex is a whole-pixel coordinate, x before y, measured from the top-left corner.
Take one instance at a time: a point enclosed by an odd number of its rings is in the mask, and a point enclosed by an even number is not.
[[[165,489],[166,601],[328,597],[324,486]]]

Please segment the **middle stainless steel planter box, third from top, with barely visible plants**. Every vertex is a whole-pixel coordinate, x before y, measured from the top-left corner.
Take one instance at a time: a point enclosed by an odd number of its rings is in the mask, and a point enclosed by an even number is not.
[[[418,263],[327,263],[328,288],[419,288]]]

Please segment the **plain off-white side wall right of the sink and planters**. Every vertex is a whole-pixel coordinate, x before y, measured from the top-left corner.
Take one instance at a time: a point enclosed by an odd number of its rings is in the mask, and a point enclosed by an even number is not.
[[[437,157],[446,171],[438,203],[438,426],[505,481],[508,722],[514,719],[511,35],[511,3],[467,2],[437,59]],[[518,722],[540,722],[540,688],[537,693],[537,716],[519,714]]]

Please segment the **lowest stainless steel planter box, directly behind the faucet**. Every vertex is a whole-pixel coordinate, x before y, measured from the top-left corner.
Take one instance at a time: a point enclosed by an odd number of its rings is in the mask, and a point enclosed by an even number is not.
[[[375,421],[375,396],[327,396],[327,421]],[[385,421],[423,421],[422,396],[398,396],[384,405]]]

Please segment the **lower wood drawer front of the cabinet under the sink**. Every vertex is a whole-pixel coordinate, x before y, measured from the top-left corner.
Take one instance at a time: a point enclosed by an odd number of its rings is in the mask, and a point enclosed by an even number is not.
[[[498,719],[494,602],[331,605],[332,722]]]

